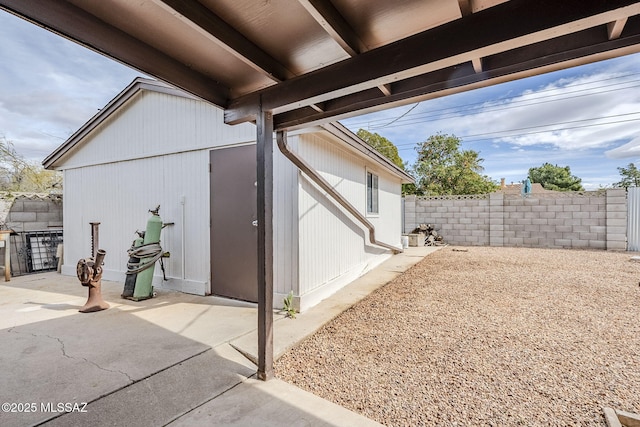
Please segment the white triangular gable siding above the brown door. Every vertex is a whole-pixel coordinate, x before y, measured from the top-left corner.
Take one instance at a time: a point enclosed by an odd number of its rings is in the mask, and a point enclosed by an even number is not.
[[[59,162],[60,169],[255,141],[252,124],[224,124],[204,101],[142,91]]]

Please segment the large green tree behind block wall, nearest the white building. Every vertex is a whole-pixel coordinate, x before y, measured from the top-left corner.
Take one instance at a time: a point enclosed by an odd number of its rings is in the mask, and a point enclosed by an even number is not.
[[[413,165],[417,194],[486,194],[498,188],[486,175],[480,153],[460,150],[460,138],[437,134],[418,144]]]

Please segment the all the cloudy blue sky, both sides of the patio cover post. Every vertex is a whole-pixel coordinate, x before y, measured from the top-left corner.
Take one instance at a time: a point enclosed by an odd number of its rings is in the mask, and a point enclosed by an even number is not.
[[[111,59],[0,11],[0,136],[42,161],[135,77]],[[342,120],[398,146],[444,133],[478,151],[484,174],[507,183],[548,162],[569,166],[586,189],[640,163],[640,54]]]

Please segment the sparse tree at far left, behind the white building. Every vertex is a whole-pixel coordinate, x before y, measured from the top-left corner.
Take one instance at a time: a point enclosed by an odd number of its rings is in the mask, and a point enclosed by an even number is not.
[[[61,183],[60,173],[25,160],[4,136],[0,136],[0,190],[48,192]]]

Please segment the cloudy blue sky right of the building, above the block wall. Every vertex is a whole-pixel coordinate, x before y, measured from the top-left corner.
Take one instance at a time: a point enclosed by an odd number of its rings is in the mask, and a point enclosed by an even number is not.
[[[640,136],[640,55],[424,101],[345,120],[370,127],[394,142],[402,158],[415,159],[415,144],[438,132],[454,134],[463,148],[480,151],[485,173],[520,181],[544,162],[569,165],[585,187],[618,181],[605,151]],[[631,145],[631,144],[630,144]],[[640,150],[640,142],[636,142]]]

